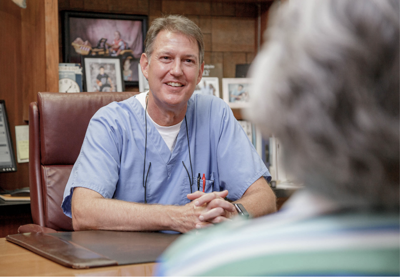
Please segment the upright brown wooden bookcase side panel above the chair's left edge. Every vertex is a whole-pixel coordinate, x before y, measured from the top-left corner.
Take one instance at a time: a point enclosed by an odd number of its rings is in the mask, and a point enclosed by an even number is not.
[[[29,0],[21,9],[23,118],[39,91],[58,92],[58,1]]]

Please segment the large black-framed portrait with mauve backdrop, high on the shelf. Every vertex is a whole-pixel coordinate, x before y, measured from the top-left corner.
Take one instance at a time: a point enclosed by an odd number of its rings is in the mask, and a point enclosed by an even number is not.
[[[128,85],[138,85],[147,16],[66,11],[62,17],[64,62],[80,63],[80,55],[118,57],[121,78]]]

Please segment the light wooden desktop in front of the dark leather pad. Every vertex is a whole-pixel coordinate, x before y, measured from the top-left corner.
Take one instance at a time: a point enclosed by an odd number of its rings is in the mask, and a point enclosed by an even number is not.
[[[72,269],[0,238],[0,275],[8,277],[151,277],[155,263]]]

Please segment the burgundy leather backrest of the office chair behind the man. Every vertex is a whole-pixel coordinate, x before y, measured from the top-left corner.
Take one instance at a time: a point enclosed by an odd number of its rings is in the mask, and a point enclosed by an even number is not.
[[[35,224],[73,230],[61,209],[90,118],[101,107],[138,92],[39,92],[29,105],[30,207]]]

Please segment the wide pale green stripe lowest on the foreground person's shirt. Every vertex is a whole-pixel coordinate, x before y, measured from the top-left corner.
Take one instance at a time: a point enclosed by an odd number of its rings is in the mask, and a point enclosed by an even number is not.
[[[211,269],[198,277],[400,275],[400,249],[340,250],[258,256]]]

